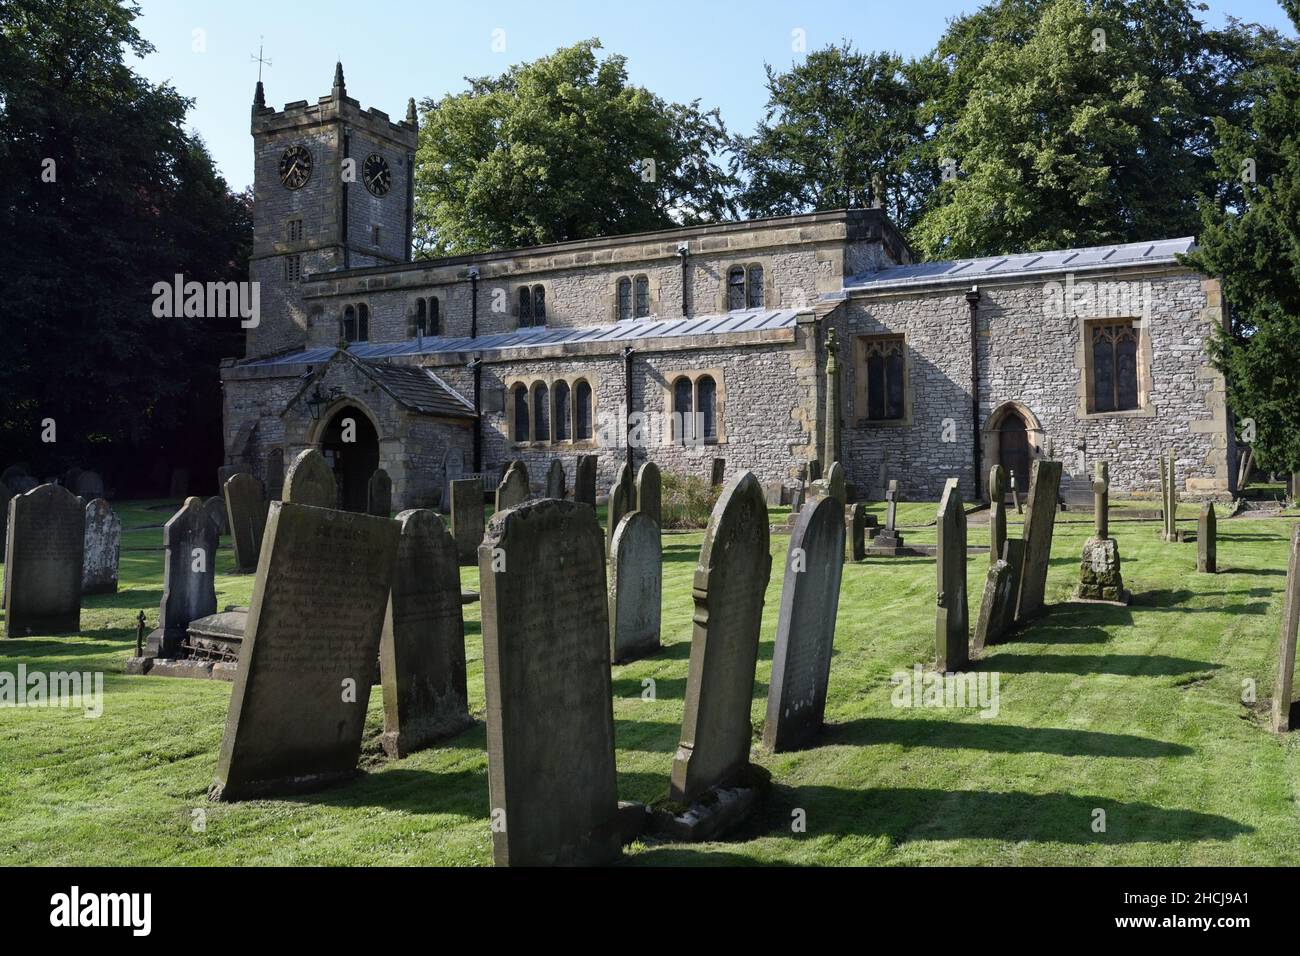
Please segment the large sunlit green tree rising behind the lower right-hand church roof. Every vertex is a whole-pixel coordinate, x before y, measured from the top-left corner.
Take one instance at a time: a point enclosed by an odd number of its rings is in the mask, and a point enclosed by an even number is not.
[[[945,172],[913,232],[931,258],[1187,235],[1214,194],[1214,117],[1247,108],[1257,29],[1192,0],[1001,0],[927,59],[924,155]]]

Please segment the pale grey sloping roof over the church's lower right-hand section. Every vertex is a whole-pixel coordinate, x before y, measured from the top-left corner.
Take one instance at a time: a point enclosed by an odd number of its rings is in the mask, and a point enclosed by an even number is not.
[[[987,278],[1015,278],[1063,272],[1089,272],[1124,265],[1171,265],[1180,252],[1196,246],[1191,237],[1157,239],[1156,242],[1130,242],[1121,246],[1089,246],[1087,248],[1060,248],[1050,252],[1023,252],[980,259],[953,259],[914,265],[890,265],[876,272],[844,280],[844,290],[894,289],[910,286],[961,282],[975,285]],[[835,293],[827,298],[840,298]]]

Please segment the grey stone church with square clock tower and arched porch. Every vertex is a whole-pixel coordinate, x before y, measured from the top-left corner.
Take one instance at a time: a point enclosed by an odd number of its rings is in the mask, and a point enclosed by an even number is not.
[[[342,505],[382,466],[394,506],[512,459],[534,490],[599,454],[794,485],[827,438],[859,497],[889,480],[987,493],[1001,462],[1063,462],[1070,494],[1110,462],[1117,492],[1230,492],[1235,449],[1205,343],[1218,282],[1192,241],[915,263],[880,209],[838,209],[412,261],[413,101],[404,120],[347,95],[252,108],[251,278],[260,323],[222,363],[228,464],[278,486],[321,449]],[[829,349],[828,349],[829,346]],[[630,423],[630,428],[629,428]]]

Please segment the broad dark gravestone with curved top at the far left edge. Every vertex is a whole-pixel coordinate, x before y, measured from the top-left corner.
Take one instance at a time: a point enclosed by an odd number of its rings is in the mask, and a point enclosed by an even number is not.
[[[86,510],[60,485],[9,499],[5,546],[5,636],[81,630]]]

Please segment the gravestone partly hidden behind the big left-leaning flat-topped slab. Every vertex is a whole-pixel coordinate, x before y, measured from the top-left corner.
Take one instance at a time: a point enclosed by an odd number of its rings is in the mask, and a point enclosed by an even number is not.
[[[380,643],[380,744],[394,758],[473,723],[456,542],[433,511],[403,511],[396,522],[402,537]]]

